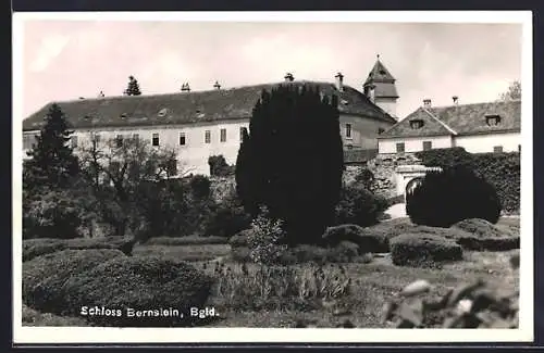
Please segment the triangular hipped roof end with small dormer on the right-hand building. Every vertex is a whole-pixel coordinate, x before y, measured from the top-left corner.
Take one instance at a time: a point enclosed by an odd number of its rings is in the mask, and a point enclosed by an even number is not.
[[[421,126],[419,126],[421,125]],[[429,112],[420,108],[416,112],[382,133],[379,138],[449,136],[453,131]]]

